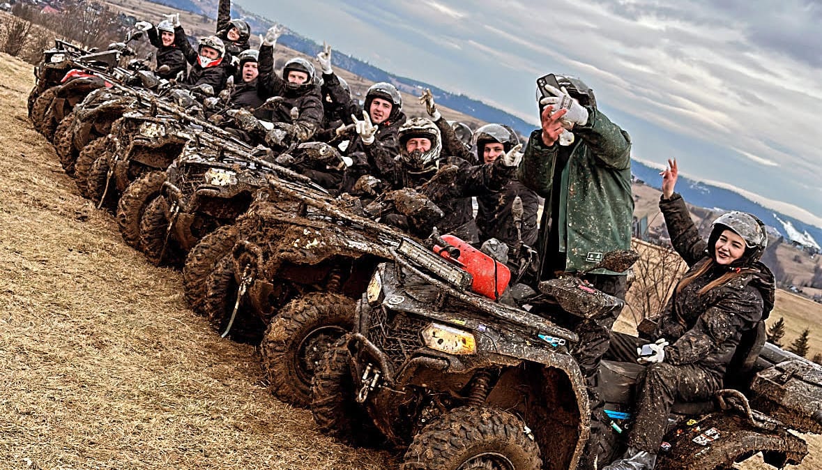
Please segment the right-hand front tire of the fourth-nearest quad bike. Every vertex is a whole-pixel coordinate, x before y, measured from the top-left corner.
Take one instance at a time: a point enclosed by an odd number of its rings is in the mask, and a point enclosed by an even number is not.
[[[126,191],[122,191],[117,204],[116,219],[122,239],[129,247],[140,249],[140,219],[149,202],[159,196],[164,181],[164,172],[145,173],[128,185]]]

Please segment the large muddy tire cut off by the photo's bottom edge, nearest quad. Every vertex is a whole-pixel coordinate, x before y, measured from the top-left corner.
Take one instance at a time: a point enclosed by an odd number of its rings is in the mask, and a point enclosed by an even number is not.
[[[402,470],[505,468],[539,470],[539,446],[525,423],[497,408],[455,408],[415,435]]]

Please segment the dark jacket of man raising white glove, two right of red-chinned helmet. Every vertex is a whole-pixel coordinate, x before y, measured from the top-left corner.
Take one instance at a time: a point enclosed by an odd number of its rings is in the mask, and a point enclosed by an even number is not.
[[[271,122],[288,122],[295,128],[298,141],[310,140],[322,122],[322,103],[319,85],[302,85],[293,90],[286,82],[274,73],[274,47],[260,46],[260,62],[257,63],[260,75],[257,76],[257,88],[261,96],[282,96],[283,102],[271,113]],[[293,119],[291,113],[297,108],[298,117]]]

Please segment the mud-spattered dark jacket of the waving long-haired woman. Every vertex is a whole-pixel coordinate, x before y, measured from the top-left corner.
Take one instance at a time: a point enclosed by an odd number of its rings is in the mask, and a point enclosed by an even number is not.
[[[673,247],[690,267],[686,276],[711,260],[694,222],[678,194],[660,200]],[[713,279],[727,272],[717,266],[691,281],[667,303],[655,332],[671,345],[665,348],[665,362],[673,365],[704,366],[723,376],[737,349],[741,335],[754,328],[774,306],[774,275],[757,261],[751,272],[742,274],[709,292],[697,293]]]

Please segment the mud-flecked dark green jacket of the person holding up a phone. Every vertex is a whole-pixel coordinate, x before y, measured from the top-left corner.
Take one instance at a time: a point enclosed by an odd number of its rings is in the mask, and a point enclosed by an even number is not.
[[[557,247],[547,247],[550,224],[559,232],[558,251],[566,253],[566,271],[595,265],[607,251],[630,248],[634,199],[630,191],[630,136],[603,113],[588,108],[589,122],[575,126],[576,142],[545,147],[540,129],[531,133],[518,179],[545,198],[537,251],[541,272],[551,269]],[[552,214],[552,185],[557,160],[567,158],[558,188],[560,214]],[[563,247],[563,245],[565,245]],[[564,249],[563,249],[564,248]],[[594,273],[613,274],[597,270]]]

